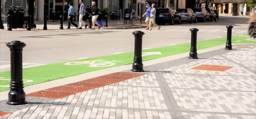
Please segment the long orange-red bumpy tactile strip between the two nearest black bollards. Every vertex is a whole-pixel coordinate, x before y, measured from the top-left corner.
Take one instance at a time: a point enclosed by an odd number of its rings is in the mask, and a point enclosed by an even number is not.
[[[26,96],[62,98],[69,95],[77,94],[94,88],[103,87],[120,81],[128,80],[137,76],[145,75],[144,73],[117,72],[104,76],[91,78],[88,80],[70,83],[54,88],[48,88],[38,92],[27,94]]]

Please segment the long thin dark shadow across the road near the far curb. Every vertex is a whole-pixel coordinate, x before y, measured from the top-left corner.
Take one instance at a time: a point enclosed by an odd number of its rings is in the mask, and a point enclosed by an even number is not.
[[[84,32],[84,33],[69,33],[69,34],[54,34],[54,35],[42,35],[42,36],[24,36],[20,38],[51,38],[47,36],[81,36],[81,34],[103,34],[113,31],[96,31],[96,32]]]

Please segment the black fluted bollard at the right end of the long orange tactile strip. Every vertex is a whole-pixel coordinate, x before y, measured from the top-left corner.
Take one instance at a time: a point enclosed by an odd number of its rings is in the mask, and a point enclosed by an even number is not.
[[[143,64],[142,64],[142,36],[145,33],[142,31],[134,31],[133,35],[135,37],[134,43],[134,58],[133,58],[133,69],[131,71],[134,72],[142,72]]]

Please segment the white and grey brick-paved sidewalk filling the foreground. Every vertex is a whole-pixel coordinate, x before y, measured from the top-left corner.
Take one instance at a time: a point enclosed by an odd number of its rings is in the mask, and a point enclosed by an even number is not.
[[[19,106],[3,100],[0,111],[12,114],[0,119],[255,119],[256,48],[252,44],[233,45],[233,50],[224,47],[204,49],[198,53],[199,59],[188,59],[187,52],[145,61],[142,76],[59,99],[27,96],[28,104]],[[202,64],[231,68],[191,69]],[[131,72],[130,68],[114,68]],[[85,79],[82,74],[80,78]]]

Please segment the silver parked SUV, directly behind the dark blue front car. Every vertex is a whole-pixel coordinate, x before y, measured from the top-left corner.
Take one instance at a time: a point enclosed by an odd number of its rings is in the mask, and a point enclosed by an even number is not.
[[[177,9],[176,11],[180,14],[182,22],[197,23],[197,14],[191,8]]]

